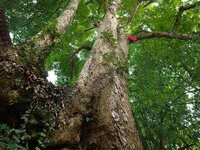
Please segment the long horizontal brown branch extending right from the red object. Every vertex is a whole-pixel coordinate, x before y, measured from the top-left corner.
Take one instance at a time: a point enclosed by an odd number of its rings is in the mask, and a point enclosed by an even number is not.
[[[192,41],[200,40],[199,37],[195,37],[190,34],[175,34],[175,33],[171,33],[171,32],[149,33],[149,34],[144,34],[144,35],[138,35],[138,36],[136,36],[136,38],[138,40],[152,39],[152,38],[171,38],[171,39],[192,40]]]

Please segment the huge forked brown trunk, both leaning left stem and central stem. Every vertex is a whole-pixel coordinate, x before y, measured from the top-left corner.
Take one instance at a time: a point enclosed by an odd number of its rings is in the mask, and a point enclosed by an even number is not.
[[[64,12],[71,14],[68,15],[70,19],[65,21],[68,22],[67,25],[63,25],[58,19],[58,32],[67,28],[79,2],[76,0],[70,3],[69,11]],[[30,103],[47,103],[59,124],[56,131],[49,134],[48,149],[75,149],[79,145],[85,150],[141,150],[124,78],[128,41],[123,30],[117,29],[116,11],[119,7],[120,0],[114,0],[106,11],[99,26],[99,35],[73,88],[56,87],[46,81],[41,71],[43,68],[34,69],[39,67],[38,61],[41,58],[29,56],[32,45],[2,48],[0,108],[6,111],[1,112],[1,122],[17,127],[20,115]],[[41,47],[39,54],[57,41],[52,40],[50,34],[43,37],[39,34],[34,39],[38,40],[37,46],[39,43]],[[60,106],[59,111],[53,108],[55,105]],[[11,114],[11,109],[18,113]],[[36,108],[34,114],[42,116],[44,113],[41,111],[45,113],[47,110]],[[11,122],[6,119],[2,121],[6,115],[11,118]],[[41,118],[48,119],[45,115]],[[38,124],[44,126],[41,121]],[[32,128],[31,124],[29,126]]]

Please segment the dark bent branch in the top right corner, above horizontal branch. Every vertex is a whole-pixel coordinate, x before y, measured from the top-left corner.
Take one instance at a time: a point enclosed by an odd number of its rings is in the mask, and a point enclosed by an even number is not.
[[[196,3],[193,3],[191,5],[187,5],[187,6],[181,6],[179,8],[179,11],[176,15],[176,19],[174,21],[174,25],[173,25],[173,31],[176,31],[180,22],[181,22],[181,17],[182,17],[182,14],[184,11],[187,11],[187,10],[190,10],[190,9],[193,9],[195,7],[199,7],[200,6],[200,1],[196,2]]]

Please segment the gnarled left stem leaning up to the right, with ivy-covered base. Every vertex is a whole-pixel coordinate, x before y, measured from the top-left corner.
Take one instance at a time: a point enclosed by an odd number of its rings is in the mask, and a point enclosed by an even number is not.
[[[64,26],[65,28],[69,26],[70,21],[73,19],[79,2],[80,0],[77,0],[74,3],[74,0],[72,0],[69,3],[67,7],[69,11],[67,12],[71,14],[67,14],[64,11],[68,20]],[[58,24],[60,23],[58,22]],[[2,30],[7,29],[6,24],[4,24],[4,27]],[[4,39],[6,38],[5,34],[2,36]],[[34,41],[30,41],[28,44],[0,47],[0,122],[8,124],[12,128],[18,128],[23,123],[23,120],[20,119],[21,116],[32,105],[34,108],[30,117],[35,120],[35,123],[26,123],[26,128],[29,130],[28,133],[32,135],[45,128],[44,122],[49,119],[46,114],[47,112],[51,113],[52,118],[50,120],[53,119],[56,124],[65,124],[67,129],[60,130],[58,128],[59,125],[57,125],[57,132],[49,134],[50,149],[54,147],[51,145],[62,145],[62,141],[64,141],[66,147],[76,146],[80,141],[77,132],[81,127],[81,117],[79,117],[81,115],[74,116],[73,114],[73,105],[76,106],[76,104],[72,103],[70,105],[71,102],[69,102],[76,90],[56,87],[46,80],[44,60],[51,50],[51,44],[55,42],[50,33],[44,35],[39,33],[34,37]],[[39,109],[39,105],[47,105],[48,108]],[[56,110],[56,107],[60,107],[60,113]],[[60,117],[62,114],[65,114],[64,119]],[[77,118],[80,119],[77,120]],[[68,122],[66,123],[63,120]],[[56,138],[56,143],[54,143],[54,137]],[[30,149],[37,146],[37,143],[34,145],[34,138],[37,137],[33,136],[29,140]]]

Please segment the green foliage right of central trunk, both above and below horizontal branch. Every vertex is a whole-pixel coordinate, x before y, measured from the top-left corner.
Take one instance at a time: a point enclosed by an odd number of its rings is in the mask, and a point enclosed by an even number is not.
[[[157,3],[140,7],[127,31],[137,31],[136,35],[171,32],[174,14],[183,3]],[[178,32],[197,35],[198,13],[199,8],[184,13]],[[165,149],[188,145],[192,146],[187,149],[198,149],[199,50],[198,43],[171,39],[144,40],[130,47],[129,92],[145,149],[162,149],[161,145]],[[193,68],[192,74],[187,68]]]

